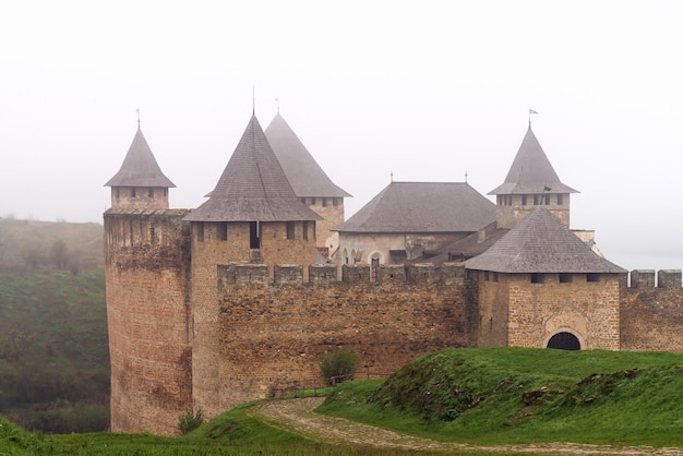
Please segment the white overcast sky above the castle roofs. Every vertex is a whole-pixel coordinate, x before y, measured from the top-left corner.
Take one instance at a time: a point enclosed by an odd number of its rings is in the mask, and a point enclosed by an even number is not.
[[[626,268],[683,268],[683,2],[2,1],[0,216],[101,223],[136,129],[213,190],[252,112],[280,112],[355,197],[390,182],[486,194],[532,129]]]

